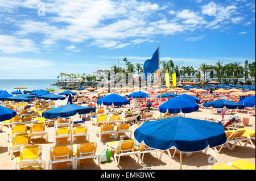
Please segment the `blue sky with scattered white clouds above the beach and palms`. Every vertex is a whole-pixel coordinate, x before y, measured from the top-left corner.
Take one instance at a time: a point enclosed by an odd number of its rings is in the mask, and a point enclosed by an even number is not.
[[[123,57],[214,65],[255,61],[253,0],[1,0],[0,78],[92,74]]]

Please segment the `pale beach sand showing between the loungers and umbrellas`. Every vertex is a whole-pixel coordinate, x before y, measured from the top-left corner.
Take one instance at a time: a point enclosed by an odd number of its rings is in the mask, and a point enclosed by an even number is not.
[[[56,105],[64,105],[67,103],[67,100],[57,100],[55,101]],[[82,106],[86,106],[86,104],[82,104]],[[156,111],[157,112],[157,111]],[[240,128],[249,128],[255,130],[255,117],[247,115],[247,113],[235,113],[234,115],[226,115],[229,116],[241,116],[249,117],[250,124],[247,127],[244,127],[241,124]],[[200,109],[197,112],[187,113],[185,117],[192,117],[195,119],[205,119],[205,118],[216,118],[221,119],[221,115],[211,114],[210,110]],[[81,120],[79,119],[79,115],[73,116],[72,120]],[[105,143],[108,141],[117,141],[114,138],[109,138],[109,136],[102,136],[102,142],[100,138],[96,136],[96,128],[92,125],[91,121],[86,121],[85,125],[88,127],[88,133],[90,136],[90,142],[97,142],[97,151],[96,154],[100,154],[105,149]],[[135,130],[133,126],[130,127],[132,131]],[[55,146],[55,128],[49,127],[46,128],[48,132],[48,142],[44,138],[41,137],[32,137],[32,144],[40,144],[43,148],[42,158],[46,160],[46,163],[49,160],[49,148],[51,146]],[[2,131],[0,131],[0,169],[1,170],[12,170],[14,169],[14,158],[10,159],[10,155],[7,154],[7,142],[6,134],[10,132],[10,128],[7,126],[3,126]],[[132,134],[132,138],[134,138]],[[87,140],[79,139],[76,140],[75,143],[86,142]],[[65,145],[66,140],[59,140],[58,144]],[[255,144],[255,142],[254,142]],[[243,145],[243,144],[242,144]],[[216,158],[216,163],[212,162],[211,154]],[[16,156],[19,155],[19,152],[15,153]],[[160,153],[158,152],[158,156]],[[208,148],[204,153],[203,151],[199,151],[196,153],[192,153],[190,157],[187,157],[185,154],[182,155],[182,169],[183,170],[204,170],[207,169],[208,166],[219,164],[219,163],[228,163],[231,161],[236,161],[238,159],[246,159],[247,161],[255,164],[255,147],[248,144],[246,147],[240,146],[237,144],[234,150],[222,149],[220,153],[215,153],[212,148]],[[114,157],[112,155],[109,163],[101,163],[100,167],[97,166],[96,159],[84,159],[81,161],[80,166],[77,169],[102,169],[102,170],[119,170],[119,169],[143,169],[143,166],[150,166],[151,170],[178,170],[180,169],[180,156],[179,153],[176,153],[174,158],[168,157],[167,152],[165,151],[162,157],[162,160],[159,161],[156,157],[156,153],[147,153],[144,155],[143,162],[138,164],[135,162],[134,156],[129,155],[120,158],[119,166],[115,165]],[[52,165],[52,169],[72,169],[66,163],[55,163]]]

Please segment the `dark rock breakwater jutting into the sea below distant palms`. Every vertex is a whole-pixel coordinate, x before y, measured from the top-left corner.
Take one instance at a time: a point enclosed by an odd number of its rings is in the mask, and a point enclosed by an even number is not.
[[[56,82],[51,86],[62,87],[63,89],[79,89],[80,87],[93,87],[97,89],[101,82]]]

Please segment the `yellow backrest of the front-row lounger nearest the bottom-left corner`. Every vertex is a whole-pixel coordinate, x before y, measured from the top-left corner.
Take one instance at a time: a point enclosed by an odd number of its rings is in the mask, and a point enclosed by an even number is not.
[[[41,159],[42,146],[41,145],[22,145],[19,153],[20,153],[20,160]]]

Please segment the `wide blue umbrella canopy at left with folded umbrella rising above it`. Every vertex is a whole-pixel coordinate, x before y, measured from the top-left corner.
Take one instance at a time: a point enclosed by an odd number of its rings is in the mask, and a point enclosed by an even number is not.
[[[69,117],[74,116],[76,113],[80,115],[95,112],[95,107],[84,107],[84,106],[76,106],[73,104],[67,104],[65,106],[61,106],[58,108],[52,108],[52,110],[44,111],[42,113],[42,117],[46,119],[55,119],[56,117]]]

